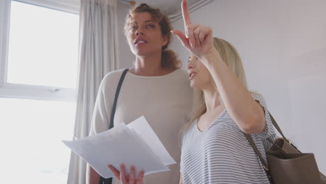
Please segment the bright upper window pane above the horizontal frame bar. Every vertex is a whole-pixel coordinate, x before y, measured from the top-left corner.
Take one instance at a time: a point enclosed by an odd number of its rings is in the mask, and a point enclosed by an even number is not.
[[[76,88],[79,16],[12,1],[9,83]]]

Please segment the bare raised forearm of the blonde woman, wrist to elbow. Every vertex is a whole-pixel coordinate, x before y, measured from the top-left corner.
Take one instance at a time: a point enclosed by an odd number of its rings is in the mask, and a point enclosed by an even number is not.
[[[201,58],[210,71],[219,95],[235,123],[246,133],[258,133],[265,127],[265,116],[261,105],[252,98],[240,79],[222,61],[215,50]]]

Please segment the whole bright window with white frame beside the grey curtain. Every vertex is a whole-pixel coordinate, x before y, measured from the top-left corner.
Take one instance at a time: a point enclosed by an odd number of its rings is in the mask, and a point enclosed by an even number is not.
[[[77,92],[76,0],[0,1],[3,183],[66,183]]]

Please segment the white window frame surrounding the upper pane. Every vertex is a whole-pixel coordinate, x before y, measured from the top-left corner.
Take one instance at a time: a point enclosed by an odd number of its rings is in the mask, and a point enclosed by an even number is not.
[[[7,82],[11,1],[79,14],[79,0],[1,0],[0,1],[0,98],[75,101],[77,89]],[[77,68],[76,68],[77,70]]]

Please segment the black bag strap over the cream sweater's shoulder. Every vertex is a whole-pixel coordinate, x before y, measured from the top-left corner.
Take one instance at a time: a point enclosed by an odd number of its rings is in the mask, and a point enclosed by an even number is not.
[[[122,75],[120,77],[118,86],[116,87],[116,95],[114,96],[114,104],[112,106],[109,129],[114,127],[114,114],[116,114],[116,103],[118,102],[118,96],[119,96],[119,93],[120,93],[120,90],[121,90],[121,86],[123,84],[123,79],[125,79],[125,75],[127,74],[128,70],[129,70],[128,68],[123,70],[123,73],[122,73]],[[112,178],[103,178],[101,176],[100,177],[100,184],[112,184]]]

